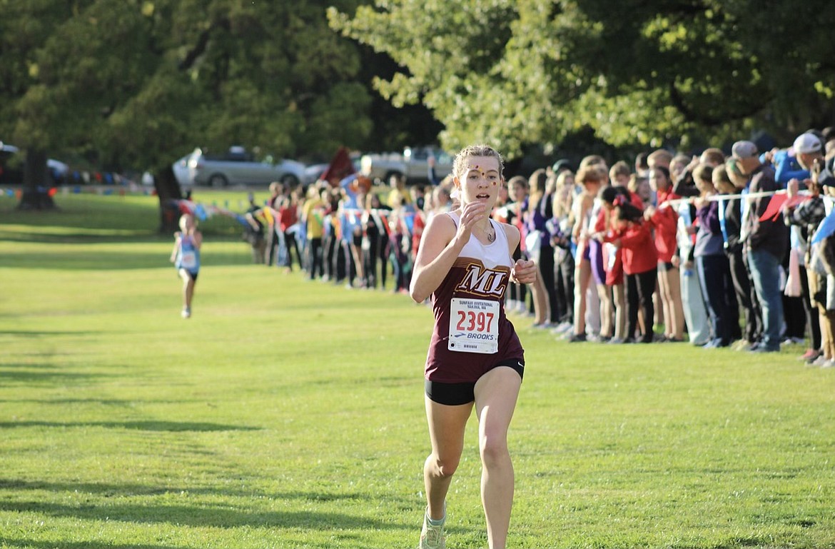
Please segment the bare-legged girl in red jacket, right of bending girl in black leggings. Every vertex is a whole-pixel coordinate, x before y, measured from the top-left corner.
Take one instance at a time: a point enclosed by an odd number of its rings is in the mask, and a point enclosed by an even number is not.
[[[658,252],[658,290],[664,309],[665,336],[669,341],[684,341],[684,308],[681,305],[679,257],[676,254],[678,214],[667,203],[680,196],[672,191],[670,171],[664,166],[650,170],[650,186],[658,206],[647,206],[644,218],[655,229],[655,250]]]

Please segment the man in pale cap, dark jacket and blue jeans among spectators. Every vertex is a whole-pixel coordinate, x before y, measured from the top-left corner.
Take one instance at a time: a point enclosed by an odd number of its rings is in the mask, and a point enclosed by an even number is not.
[[[774,169],[762,163],[757,155],[757,145],[751,141],[736,141],[731,151],[736,166],[749,179],[750,194],[779,189],[774,180]],[[783,322],[780,276],[782,260],[788,251],[788,228],[783,224],[782,214],[760,220],[771,200],[770,195],[752,198],[742,221],[742,240],[748,253],[751,279],[762,307],[763,337],[751,348],[754,353],[776,353],[780,350]]]

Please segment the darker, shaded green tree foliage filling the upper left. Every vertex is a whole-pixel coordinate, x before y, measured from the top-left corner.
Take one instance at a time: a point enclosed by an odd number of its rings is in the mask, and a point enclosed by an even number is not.
[[[163,175],[161,206],[180,195],[170,163],[195,145],[274,155],[357,146],[371,98],[353,80],[357,48],[327,27],[325,5],[0,0],[0,125],[29,155],[150,166]]]

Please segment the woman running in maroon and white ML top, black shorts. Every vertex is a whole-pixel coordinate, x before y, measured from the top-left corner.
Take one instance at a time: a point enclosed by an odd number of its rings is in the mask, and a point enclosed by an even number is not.
[[[536,266],[511,258],[519,229],[489,218],[504,185],[502,169],[501,155],[486,145],[458,153],[453,181],[460,206],[433,216],[415,260],[410,294],[418,303],[432,297],[435,316],[424,376],[432,453],[423,466],[428,506],[421,547],[445,546],[447,492],[473,407],[488,545],[504,547],[507,540],[514,496],[507,433],[524,350],[505,316],[504,292],[509,282],[534,282]]]

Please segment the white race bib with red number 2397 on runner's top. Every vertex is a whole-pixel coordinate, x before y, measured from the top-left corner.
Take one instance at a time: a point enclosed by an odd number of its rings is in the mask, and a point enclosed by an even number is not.
[[[498,301],[453,297],[449,313],[450,351],[498,353]]]

